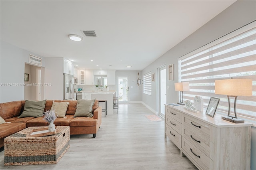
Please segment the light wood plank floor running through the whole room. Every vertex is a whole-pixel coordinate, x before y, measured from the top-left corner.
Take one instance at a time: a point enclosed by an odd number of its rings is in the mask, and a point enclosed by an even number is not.
[[[4,166],[0,169],[33,170],[185,170],[197,169],[180,150],[164,139],[164,121],[150,122],[152,115],[142,104],[119,105],[118,114],[102,117],[96,138],[71,135],[70,148],[57,164]]]

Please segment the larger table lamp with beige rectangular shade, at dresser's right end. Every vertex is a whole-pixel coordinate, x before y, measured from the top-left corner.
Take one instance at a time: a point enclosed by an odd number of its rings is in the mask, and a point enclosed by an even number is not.
[[[252,95],[252,79],[224,79],[215,80],[215,94],[228,96],[228,116],[222,116],[221,119],[233,123],[244,123],[244,120],[238,119],[236,115],[236,99],[238,96]],[[234,97],[234,114],[230,116],[230,97]]]

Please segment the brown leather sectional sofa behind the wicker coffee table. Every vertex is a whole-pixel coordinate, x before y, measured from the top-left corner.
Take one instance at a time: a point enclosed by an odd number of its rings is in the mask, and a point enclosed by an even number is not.
[[[55,100],[54,102],[64,102]],[[67,101],[65,101],[67,102]],[[73,117],[76,112],[77,101],[68,101],[68,109],[66,118],[56,118],[54,124],[56,126],[70,126],[70,134],[93,134],[96,133],[101,125],[102,108],[98,105],[98,100],[92,107],[93,117]],[[52,100],[46,100],[44,112],[51,109]],[[0,125],[0,147],[4,146],[4,138],[14,134],[24,128],[34,126],[48,126],[43,117],[24,117],[18,118],[24,110],[25,101],[12,101],[0,103],[0,116],[6,121]]]

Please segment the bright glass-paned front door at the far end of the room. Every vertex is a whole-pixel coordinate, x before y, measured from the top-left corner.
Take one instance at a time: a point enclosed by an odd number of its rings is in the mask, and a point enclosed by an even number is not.
[[[129,103],[128,77],[118,77],[118,101],[119,103]]]

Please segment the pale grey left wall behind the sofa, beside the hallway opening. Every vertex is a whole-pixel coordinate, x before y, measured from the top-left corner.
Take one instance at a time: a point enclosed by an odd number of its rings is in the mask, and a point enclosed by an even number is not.
[[[0,83],[24,83],[25,63],[28,62],[29,54],[42,58],[44,67],[44,57],[18,48],[1,40],[1,61],[0,61]],[[0,103],[9,101],[24,100],[24,86],[0,86]]]

